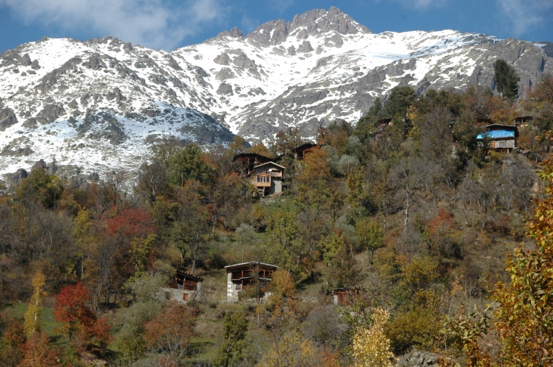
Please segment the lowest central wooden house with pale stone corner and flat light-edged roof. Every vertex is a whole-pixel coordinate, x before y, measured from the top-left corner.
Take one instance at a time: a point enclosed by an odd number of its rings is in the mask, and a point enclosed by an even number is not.
[[[237,302],[238,293],[258,285],[261,292],[265,292],[268,283],[272,280],[272,273],[279,267],[277,265],[250,261],[225,266],[227,270],[227,301]]]

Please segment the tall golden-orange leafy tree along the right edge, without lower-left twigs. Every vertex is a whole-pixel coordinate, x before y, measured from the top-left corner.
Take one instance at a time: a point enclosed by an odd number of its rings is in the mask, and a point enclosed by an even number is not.
[[[503,339],[507,366],[551,366],[553,363],[553,160],[539,173],[545,198],[536,202],[527,223],[533,250],[518,245],[507,254],[510,283],[496,284],[496,327]]]

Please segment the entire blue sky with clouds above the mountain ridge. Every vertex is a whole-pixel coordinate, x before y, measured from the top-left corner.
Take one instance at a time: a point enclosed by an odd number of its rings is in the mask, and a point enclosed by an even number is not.
[[[48,37],[114,36],[174,50],[238,26],[337,6],[373,32],[442,30],[553,41],[553,0],[0,0],[0,53]]]

